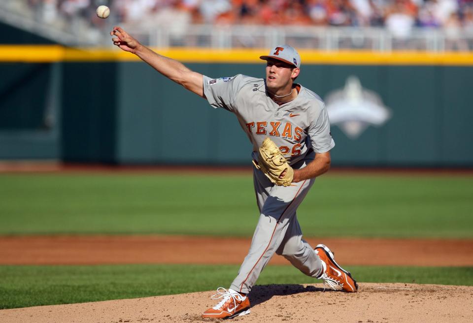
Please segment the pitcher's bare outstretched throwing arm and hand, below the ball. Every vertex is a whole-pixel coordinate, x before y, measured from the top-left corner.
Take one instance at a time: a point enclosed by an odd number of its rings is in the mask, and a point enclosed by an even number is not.
[[[140,44],[120,27],[113,27],[110,35],[113,36],[113,44],[120,49],[135,54],[170,80],[182,85],[198,96],[205,97],[203,94],[202,74],[190,70],[176,60],[152,51],[150,48]]]

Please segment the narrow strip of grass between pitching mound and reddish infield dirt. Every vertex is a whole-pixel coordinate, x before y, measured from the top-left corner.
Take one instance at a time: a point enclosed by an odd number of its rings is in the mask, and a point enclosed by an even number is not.
[[[350,266],[359,282],[473,285],[473,268]],[[0,309],[212,291],[238,266],[0,266]],[[314,284],[291,266],[268,266],[257,285]]]

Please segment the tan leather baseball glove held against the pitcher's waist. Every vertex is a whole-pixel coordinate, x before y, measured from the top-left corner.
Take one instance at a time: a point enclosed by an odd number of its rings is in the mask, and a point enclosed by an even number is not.
[[[294,169],[289,166],[289,163],[281,154],[281,151],[272,142],[270,138],[266,138],[263,141],[258,153],[258,162],[253,161],[253,164],[257,169],[260,169],[272,183],[278,186],[289,186],[291,185],[294,177]],[[282,177],[281,174],[286,171],[286,174]]]

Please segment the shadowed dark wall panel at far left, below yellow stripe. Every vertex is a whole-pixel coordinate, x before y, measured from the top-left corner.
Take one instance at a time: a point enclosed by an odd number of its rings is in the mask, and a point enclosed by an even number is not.
[[[62,64],[0,63],[0,159],[61,158]]]

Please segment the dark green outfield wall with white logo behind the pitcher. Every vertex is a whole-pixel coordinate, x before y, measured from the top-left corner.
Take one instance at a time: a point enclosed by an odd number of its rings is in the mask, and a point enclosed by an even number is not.
[[[64,53],[55,50],[49,56],[39,50],[37,56],[25,54],[23,61],[3,58],[0,159],[249,163],[251,145],[233,114],[213,109],[134,58],[105,51],[82,58],[68,52],[58,59]],[[332,125],[334,165],[473,166],[472,55],[465,54],[467,61],[423,55],[424,60],[376,56],[370,61],[369,54],[350,59],[342,53],[338,61],[317,64],[316,56],[305,54],[304,61],[301,53],[297,81],[303,86],[324,99],[338,91],[335,101],[357,102],[352,104],[357,111],[372,105],[388,111],[376,124],[370,120],[374,110],[353,114],[347,103],[341,118],[351,119]],[[211,77],[264,76],[258,60],[209,60],[182,59]],[[349,86],[353,79],[358,87]]]

